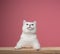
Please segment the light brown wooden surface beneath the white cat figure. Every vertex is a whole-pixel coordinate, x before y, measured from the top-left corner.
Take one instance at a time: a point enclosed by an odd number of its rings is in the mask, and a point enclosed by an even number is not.
[[[0,47],[0,54],[60,54],[60,47],[43,47],[39,51],[32,48]]]

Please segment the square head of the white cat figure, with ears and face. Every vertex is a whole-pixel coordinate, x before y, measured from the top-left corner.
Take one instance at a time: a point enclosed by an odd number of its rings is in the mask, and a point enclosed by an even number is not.
[[[36,21],[27,22],[24,20],[22,30],[23,32],[26,32],[26,33],[35,33],[36,32]]]

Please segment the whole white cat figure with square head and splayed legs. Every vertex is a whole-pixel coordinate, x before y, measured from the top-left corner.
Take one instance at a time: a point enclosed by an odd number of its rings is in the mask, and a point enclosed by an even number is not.
[[[36,35],[36,21],[23,21],[22,34],[15,48],[18,49],[27,45],[30,45],[37,50],[40,49],[40,44]]]

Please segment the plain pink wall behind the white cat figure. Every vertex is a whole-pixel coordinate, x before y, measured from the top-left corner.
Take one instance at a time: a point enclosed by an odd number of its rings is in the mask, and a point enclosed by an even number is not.
[[[0,46],[15,46],[22,21],[37,21],[42,47],[60,46],[60,0],[0,0]]]

